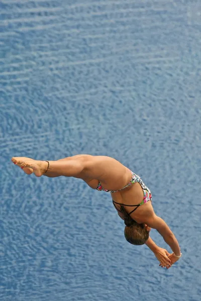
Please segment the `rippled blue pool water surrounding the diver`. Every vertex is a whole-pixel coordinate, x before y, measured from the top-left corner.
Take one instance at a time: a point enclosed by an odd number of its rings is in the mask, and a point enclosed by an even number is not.
[[[2,0],[0,11],[0,299],[199,301],[200,0]],[[76,154],[142,177],[179,241],[175,265],[126,242],[107,193],[10,162]]]

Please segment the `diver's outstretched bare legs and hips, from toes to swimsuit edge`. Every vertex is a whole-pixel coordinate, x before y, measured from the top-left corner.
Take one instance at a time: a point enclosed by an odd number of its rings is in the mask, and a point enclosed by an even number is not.
[[[74,177],[82,180],[99,180],[106,189],[118,190],[131,180],[131,172],[117,160],[106,156],[80,155],[64,160],[36,161],[30,158],[12,158],[13,163],[30,168],[36,177]],[[120,188],[119,188],[120,187]]]

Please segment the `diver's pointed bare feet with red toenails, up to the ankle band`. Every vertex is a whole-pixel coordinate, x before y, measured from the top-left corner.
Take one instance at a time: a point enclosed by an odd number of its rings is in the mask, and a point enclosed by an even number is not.
[[[47,171],[48,167],[48,163],[46,161],[37,161],[26,157],[13,157],[11,161],[21,167],[21,169],[27,169],[27,171],[29,171],[29,175],[30,172],[33,171],[36,177],[41,177]]]

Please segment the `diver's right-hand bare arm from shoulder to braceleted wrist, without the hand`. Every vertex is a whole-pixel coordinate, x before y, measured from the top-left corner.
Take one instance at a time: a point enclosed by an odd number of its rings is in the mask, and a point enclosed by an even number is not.
[[[152,217],[146,220],[146,224],[149,227],[156,229],[160,233],[164,241],[170,246],[170,248],[176,256],[181,255],[176,237],[162,218],[153,215]]]

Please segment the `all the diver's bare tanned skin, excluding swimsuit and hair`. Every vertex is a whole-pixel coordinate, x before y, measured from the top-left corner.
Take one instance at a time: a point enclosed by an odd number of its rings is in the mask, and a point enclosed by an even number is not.
[[[37,161],[26,157],[13,157],[11,161],[21,167],[27,175],[35,174],[36,177],[74,177],[82,179],[90,188],[96,189],[98,182],[107,190],[116,191],[125,187],[131,181],[130,170],[117,160],[106,156],[76,155],[57,161]],[[137,205],[144,197],[139,183],[134,183],[124,190],[111,193],[117,203],[125,205]],[[127,211],[128,207],[125,206]],[[131,207],[130,207],[131,208]],[[124,216],[119,213],[124,219]],[[131,218],[137,223],[143,224],[147,231],[156,229],[169,245],[172,253],[158,247],[151,237],[146,245],[153,251],[160,262],[160,266],[169,268],[181,255],[179,244],[163,219],[158,217],[153,210],[151,202],[139,206],[131,214]]]

